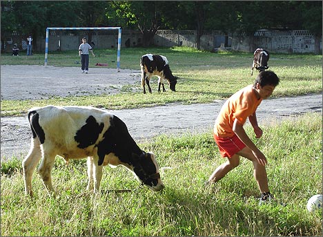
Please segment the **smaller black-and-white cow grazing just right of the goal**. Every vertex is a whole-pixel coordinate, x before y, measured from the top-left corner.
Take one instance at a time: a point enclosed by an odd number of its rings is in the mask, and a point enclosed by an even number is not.
[[[160,92],[160,86],[163,86],[164,92],[166,91],[164,87],[164,79],[168,81],[170,90],[175,91],[178,77],[173,76],[166,57],[152,54],[143,55],[140,59],[140,68],[141,86],[144,88],[144,94],[146,94],[145,83],[148,86],[149,93],[151,93],[149,80],[153,76],[158,77],[158,92]]]

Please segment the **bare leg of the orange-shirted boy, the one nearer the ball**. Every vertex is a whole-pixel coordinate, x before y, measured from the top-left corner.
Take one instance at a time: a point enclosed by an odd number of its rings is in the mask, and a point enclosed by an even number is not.
[[[269,191],[269,188],[266,167],[257,162],[255,155],[253,155],[253,152],[247,146],[237,154],[242,155],[244,158],[247,158],[248,160],[251,160],[253,162],[253,176],[257,181],[260,193],[267,193]]]

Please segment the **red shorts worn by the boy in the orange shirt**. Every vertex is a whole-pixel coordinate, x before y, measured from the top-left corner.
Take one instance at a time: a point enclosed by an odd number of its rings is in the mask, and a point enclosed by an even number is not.
[[[222,157],[231,158],[235,153],[246,147],[244,142],[239,140],[237,135],[233,135],[232,138],[219,138],[215,133],[213,133],[213,137],[217,146],[219,146],[219,151]]]

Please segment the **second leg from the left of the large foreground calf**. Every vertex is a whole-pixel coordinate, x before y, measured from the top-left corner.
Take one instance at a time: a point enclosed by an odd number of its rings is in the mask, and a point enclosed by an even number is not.
[[[52,166],[55,163],[56,154],[53,153],[50,149],[46,149],[43,146],[43,159],[41,160],[41,164],[38,167],[39,175],[43,180],[43,184],[50,195],[51,192],[54,191],[52,187]]]

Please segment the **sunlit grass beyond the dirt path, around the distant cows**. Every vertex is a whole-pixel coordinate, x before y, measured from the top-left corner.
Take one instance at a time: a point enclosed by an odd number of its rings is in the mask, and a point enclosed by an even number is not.
[[[253,84],[257,71],[251,76],[252,53],[209,53],[188,47],[174,48],[122,48],[121,69],[140,70],[139,59],[146,53],[165,55],[170,62],[177,81],[177,92],[167,89],[166,93],[157,93],[157,82],[153,79],[152,95],[141,92],[132,93],[129,85],[122,88],[118,95],[95,95],[75,97],[53,97],[39,100],[1,100],[1,115],[21,115],[32,106],[53,105],[90,105],[109,109],[139,108],[144,106],[164,105],[169,103],[209,103],[215,99],[225,99],[247,84]],[[95,50],[97,57],[90,59],[94,67],[96,62],[108,63],[116,68],[116,51]],[[1,64],[43,65],[43,54],[32,57],[12,57],[1,55]],[[28,59],[28,60],[27,60]],[[79,66],[77,51],[49,53],[48,65]],[[113,61],[113,62],[112,62]],[[273,97],[322,93],[322,55],[284,55],[272,54],[268,62],[270,69],[280,77]],[[155,77],[153,77],[155,78]],[[141,91],[139,82],[136,85]],[[129,99],[131,97],[131,99]]]

